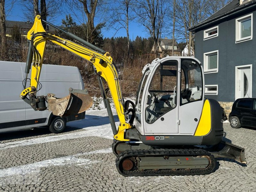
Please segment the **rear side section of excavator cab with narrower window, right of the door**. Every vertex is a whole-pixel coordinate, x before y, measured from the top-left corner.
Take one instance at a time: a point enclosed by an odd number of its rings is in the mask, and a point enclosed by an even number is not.
[[[181,135],[194,135],[204,106],[202,66],[194,59],[180,62],[179,130]]]

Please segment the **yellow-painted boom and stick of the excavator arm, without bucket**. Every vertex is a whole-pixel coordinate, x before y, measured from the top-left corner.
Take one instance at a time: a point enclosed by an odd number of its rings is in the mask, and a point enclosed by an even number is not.
[[[42,32],[44,34],[40,34]],[[101,53],[93,51],[80,44],[76,44],[72,41],[61,38],[59,36],[46,33],[41,23],[41,17],[39,15],[36,16],[33,27],[28,31],[28,39],[31,40],[32,35],[36,33],[38,33],[38,35],[36,35],[36,37],[34,38],[33,43],[36,50],[40,54],[40,58],[36,57],[35,54],[33,54],[31,84],[29,88],[30,92],[31,92],[32,86],[37,88],[37,85],[38,85],[40,71],[43,64],[44,51],[46,48],[46,42],[50,41],[54,44],[57,44],[62,48],[91,62],[96,68],[97,74],[99,74],[101,77],[103,77],[106,80],[115,104],[119,121],[120,121],[120,125],[118,127],[118,133],[114,136],[114,138],[120,141],[129,141],[127,139],[124,139],[124,131],[125,129],[132,128],[132,126],[131,124],[125,122],[124,103],[123,103],[124,100],[121,93],[119,77],[118,77],[116,68],[112,63],[113,61],[110,54],[106,52],[104,55],[102,55]],[[100,60],[103,60],[104,62],[102,63],[100,62]],[[21,98],[25,97],[28,94],[28,92],[26,92],[25,94],[23,93],[26,90],[28,90],[28,88],[26,88],[24,91],[21,92],[21,95],[20,95],[22,96]]]

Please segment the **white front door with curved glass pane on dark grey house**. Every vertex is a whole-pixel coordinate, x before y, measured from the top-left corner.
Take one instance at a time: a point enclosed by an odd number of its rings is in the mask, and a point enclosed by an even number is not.
[[[237,68],[236,99],[252,97],[251,70],[251,66]]]

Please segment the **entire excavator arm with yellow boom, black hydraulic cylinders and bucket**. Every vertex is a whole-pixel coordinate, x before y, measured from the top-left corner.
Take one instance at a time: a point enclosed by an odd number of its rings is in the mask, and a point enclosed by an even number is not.
[[[52,25],[49,22],[46,23]],[[98,80],[100,82],[102,97],[108,111],[108,116],[110,118],[114,138],[120,141],[129,141],[127,139],[124,139],[124,131],[132,127],[131,121],[130,123],[127,123],[128,109],[125,108],[126,106],[129,106],[129,102],[128,105],[127,102],[124,103],[124,99],[120,89],[118,73],[113,64],[110,54],[101,50],[95,45],[84,41],[83,39],[75,36],[72,33],[63,31],[62,29],[54,25],[52,26],[66,33],[66,35],[74,38],[76,42],[82,43],[83,45],[61,38],[60,36],[57,36],[55,34],[46,32],[43,28],[41,17],[37,15],[33,27],[28,31],[27,37],[28,40],[30,40],[30,44],[25,69],[26,77],[23,84],[24,90],[21,92],[20,98],[30,104],[31,107],[34,108],[34,110],[46,110],[47,107],[45,102],[47,102],[48,109],[51,110],[53,115],[56,116],[65,116],[72,113],[80,113],[91,107],[92,98],[88,95],[87,90],[73,90],[72,88],[70,88],[70,95],[60,99],[55,98],[55,95],[52,93],[47,94],[47,96],[36,96],[38,87],[39,89],[41,87],[39,79],[44,60],[46,43],[47,41],[52,42],[53,44],[59,45],[60,47],[84,58],[85,60],[91,62],[94,65],[97,71]],[[28,73],[30,69],[30,86],[26,87],[27,80],[29,79]],[[105,89],[102,84],[102,78],[104,78],[108,84],[108,88],[110,90],[116,108],[117,116],[120,120],[117,131],[109,100],[106,97]]]

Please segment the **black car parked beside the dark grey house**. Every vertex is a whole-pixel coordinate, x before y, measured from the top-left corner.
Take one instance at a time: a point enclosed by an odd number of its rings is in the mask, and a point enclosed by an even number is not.
[[[231,127],[240,128],[241,126],[256,127],[256,98],[237,99],[232,106],[229,114]]]

